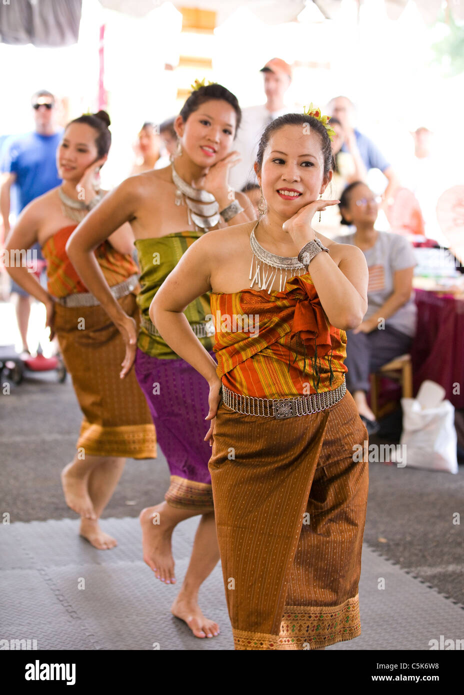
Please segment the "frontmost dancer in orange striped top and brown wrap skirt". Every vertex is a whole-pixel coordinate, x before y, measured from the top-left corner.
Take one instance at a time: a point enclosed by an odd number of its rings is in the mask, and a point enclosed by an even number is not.
[[[197,240],[150,309],[210,386],[205,439],[236,649],[320,649],[361,632],[368,474],[353,450],[367,431],[344,359],[345,331],[367,308],[367,265],[311,227],[336,201],[318,200],[331,131],[309,112],[263,133],[259,220]],[[207,291],[218,365],[182,314]]]

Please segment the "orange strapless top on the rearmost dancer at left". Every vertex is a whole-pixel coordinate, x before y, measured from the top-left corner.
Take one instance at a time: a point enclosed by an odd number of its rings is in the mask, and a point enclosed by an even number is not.
[[[76,227],[77,224],[70,224],[69,227],[58,229],[42,246],[42,254],[47,261],[48,290],[53,297],[88,292],[66,253],[67,240]],[[120,254],[109,241],[100,244],[94,254],[110,287],[131,275],[138,275],[138,267],[132,256]]]

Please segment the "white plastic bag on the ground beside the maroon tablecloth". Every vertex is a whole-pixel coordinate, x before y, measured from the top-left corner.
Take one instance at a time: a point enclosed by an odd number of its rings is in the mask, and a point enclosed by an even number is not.
[[[417,394],[419,395],[419,394]],[[422,408],[416,398],[401,398],[406,466],[458,473],[454,406],[449,400]]]

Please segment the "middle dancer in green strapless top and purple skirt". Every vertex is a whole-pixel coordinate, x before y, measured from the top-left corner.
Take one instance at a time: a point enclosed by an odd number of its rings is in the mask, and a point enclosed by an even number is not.
[[[229,168],[238,161],[231,147],[240,117],[238,101],[229,90],[219,84],[197,85],[176,117],[179,148],[172,166],[123,181],[85,218],[67,246],[76,270],[124,336],[122,377],[135,359],[135,373],[169,464],[171,484],[165,502],[140,514],[144,560],[166,584],[176,581],[172,531],[180,521],[201,514],[190,565],[171,608],[196,637],[219,633],[217,623],[206,619],[197,603],[199,587],[219,559],[208,472],[210,448],[204,441],[208,384],[172,352],[148,311],[165,277],[197,238],[214,227],[254,218],[247,197],[227,183]],[[141,267],[138,338],[133,319],[114,301],[92,256],[94,248],[123,222],[131,224]],[[184,310],[185,322],[213,355],[214,327],[205,320],[209,313],[208,293]]]

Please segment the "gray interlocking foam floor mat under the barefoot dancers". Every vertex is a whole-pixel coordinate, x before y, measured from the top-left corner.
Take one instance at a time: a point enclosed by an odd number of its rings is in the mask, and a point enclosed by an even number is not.
[[[136,518],[105,519],[119,546],[96,550],[77,536],[78,521],[0,525],[0,638],[36,639],[39,649],[233,649],[222,573],[204,582],[200,603],[221,626],[197,639],[169,613],[188,566],[198,521],[174,532],[177,584],[165,587],[141,559]],[[385,589],[379,589],[384,580]],[[85,589],[79,582],[85,580]],[[329,650],[429,650],[429,640],[463,639],[464,612],[435,589],[363,547],[361,637]],[[207,608],[206,608],[207,607]]]

